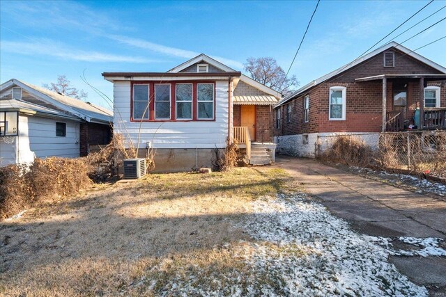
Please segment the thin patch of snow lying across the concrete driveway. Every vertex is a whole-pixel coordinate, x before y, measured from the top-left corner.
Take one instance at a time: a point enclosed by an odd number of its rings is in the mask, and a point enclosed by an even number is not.
[[[417,237],[398,237],[397,239],[391,239],[387,237],[376,237],[376,236],[367,236],[367,238],[374,242],[378,243],[380,246],[383,246],[390,255],[396,256],[446,256],[446,250],[444,248],[440,248],[440,243],[443,239],[435,238],[435,237],[427,237],[427,238],[417,238]],[[395,250],[393,248],[394,244],[392,242],[401,241],[403,243],[408,243],[412,246],[418,247],[410,250],[402,250],[401,248]]]

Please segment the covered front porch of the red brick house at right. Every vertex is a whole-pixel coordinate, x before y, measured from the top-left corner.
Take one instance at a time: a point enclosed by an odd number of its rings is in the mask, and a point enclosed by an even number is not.
[[[355,79],[382,81],[381,131],[446,129],[446,74],[381,74]]]

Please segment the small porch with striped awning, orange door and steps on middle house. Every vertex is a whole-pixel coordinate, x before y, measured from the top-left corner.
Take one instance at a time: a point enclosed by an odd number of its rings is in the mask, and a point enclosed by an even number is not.
[[[272,95],[244,95],[233,97],[232,141],[245,152],[252,165],[266,165],[275,161],[272,142],[272,115],[277,98]]]

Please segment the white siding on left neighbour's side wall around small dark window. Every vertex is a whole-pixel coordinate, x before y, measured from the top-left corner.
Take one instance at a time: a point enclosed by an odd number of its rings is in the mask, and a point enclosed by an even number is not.
[[[66,137],[56,136],[56,122],[66,123]],[[18,161],[32,162],[35,157],[79,156],[79,123],[37,116],[19,117]]]

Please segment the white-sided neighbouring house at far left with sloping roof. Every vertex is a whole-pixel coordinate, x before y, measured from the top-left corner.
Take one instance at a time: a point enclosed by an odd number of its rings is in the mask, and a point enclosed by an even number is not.
[[[112,111],[11,79],[0,86],[0,166],[108,143]],[[93,141],[93,142],[91,142]]]

